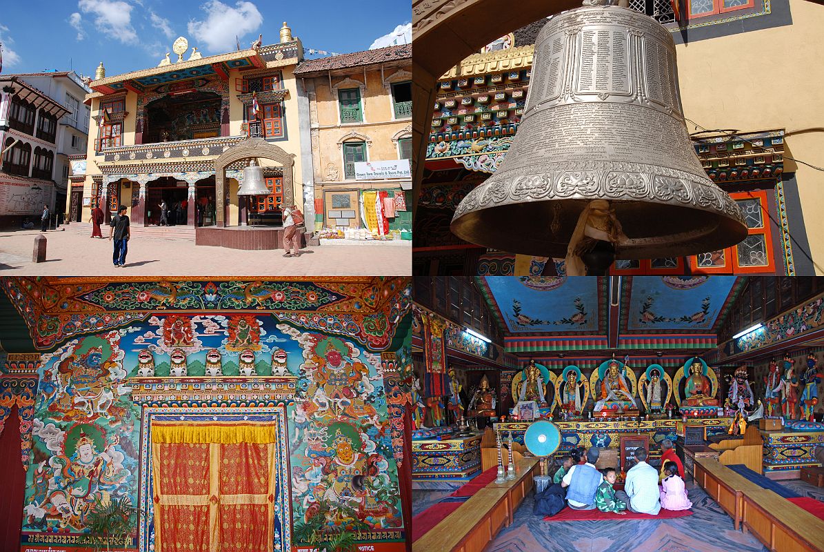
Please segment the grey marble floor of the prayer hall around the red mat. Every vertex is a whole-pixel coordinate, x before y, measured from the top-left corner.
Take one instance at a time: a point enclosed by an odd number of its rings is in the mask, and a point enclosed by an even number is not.
[[[781,482],[795,492],[824,501],[824,488],[800,480]],[[486,552],[762,552],[748,533],[735,531],[733,520],[695,484],[688,484],[694,515],[667,520],[543,521],[532,513],[533,494],[515,512]],[[447,489],[415,490],[413,510],[423,512],[451,493]]]

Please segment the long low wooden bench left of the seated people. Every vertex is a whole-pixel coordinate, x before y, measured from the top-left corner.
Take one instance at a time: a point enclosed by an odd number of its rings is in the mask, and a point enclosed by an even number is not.
[[[497,460],[496,460],[497,461]],[[470,497],[438,525],[412,544],[413,552],[481,552],[501,527],[513,522],[513,514],[532,489],[538,462],[522,458],[516,462],[517,477],[501,484],[490,483]]]

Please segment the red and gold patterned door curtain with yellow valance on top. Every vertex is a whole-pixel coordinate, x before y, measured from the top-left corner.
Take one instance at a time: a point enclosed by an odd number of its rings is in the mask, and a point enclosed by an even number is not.
[[[277,427],[152,423],[156,552],[272,552]]]

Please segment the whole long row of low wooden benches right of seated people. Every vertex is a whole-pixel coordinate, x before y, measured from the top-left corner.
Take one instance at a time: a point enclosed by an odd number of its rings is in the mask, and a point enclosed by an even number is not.
[[[695,482],[770,550],[824,550],[824,520],[719,462],[696,459]]]

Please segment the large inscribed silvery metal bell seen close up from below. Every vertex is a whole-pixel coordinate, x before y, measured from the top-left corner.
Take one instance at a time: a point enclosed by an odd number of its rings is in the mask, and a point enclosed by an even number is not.
[[[617,6],[562,12],[541,30],[513,143],[451,229],[488,248],[567,257],[568,268],[582,238],[640,259],[715,251],[747,235],[693,149],[670,33]]]

